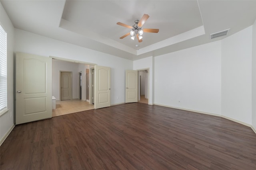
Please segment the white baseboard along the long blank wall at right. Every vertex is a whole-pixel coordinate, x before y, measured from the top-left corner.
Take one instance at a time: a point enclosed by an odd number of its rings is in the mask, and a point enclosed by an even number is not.
[[[232,118],[227,117],[227,116],[224,116],[224,115],[215,114],[215,113],[208,113],[208,112],[203,112],[203,111],[197,111],[197,110],[184,109],[184,108],[180,108],[180,107],[166,106],[166,105],[161,105],[161,104],[155,104],[155,105],[158,105],[158,106],[164,106],[164,107],[170,107],[170,108],[180,109],[180,110],[186,110],[186,111],[192,111],[192,112],[196,112],[196,113],[203,113],[203,114],[207,114],[207,115],[214,115],[214,116],[218,116],[218,117],[223,117],[223,118],[225,118],[225,119],[228,119],[228,120],[234,121],[234,122],[236,122],[236,123],[240,123],[240,124],[242,124],[242,125],[245,125],[245,126],[251,127],[251,128],[252,128],[252,130],[256,133],[256,128],[255,128],[255,127],[253,127],[252,125],[250,125],[250,124],[248,124],[248,123],[244,123],[244,122],[239,121],[239,120],[236,120],[236,119],[232,119]]]

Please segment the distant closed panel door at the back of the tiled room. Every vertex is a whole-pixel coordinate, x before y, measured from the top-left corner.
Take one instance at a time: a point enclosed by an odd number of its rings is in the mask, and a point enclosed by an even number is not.
[[[71,100],[71,72],[60,72],[60,100]]]

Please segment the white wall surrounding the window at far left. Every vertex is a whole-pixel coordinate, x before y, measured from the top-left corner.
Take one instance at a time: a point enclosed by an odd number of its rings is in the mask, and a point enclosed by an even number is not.
[[[0,2],[0,23],[7,32],[7,107],[0,116],[0,143],[14,127],[14,27]]]

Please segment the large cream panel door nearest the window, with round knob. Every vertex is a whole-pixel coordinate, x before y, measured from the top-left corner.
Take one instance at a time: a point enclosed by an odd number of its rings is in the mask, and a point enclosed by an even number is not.
[[[52,117],[52,58],[16,53],[16,124]]]

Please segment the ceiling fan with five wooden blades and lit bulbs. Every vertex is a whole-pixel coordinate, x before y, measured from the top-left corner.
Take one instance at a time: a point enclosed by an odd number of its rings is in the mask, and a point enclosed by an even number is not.
[[[134,40],[135,36],[137,37],[139,43],[142,42],[142,34],[143,32],[145,33],[158,33],[159,29],[151,29],[151,28],[144,28],[142,29],[142,26],[144,25],[144,23],[146,22],[146,20],[148,20],[149,15],[148,14],[144,14],[142,16],[142,18],[140,20],[135,20],[135,24],[130,26],[130,25],[126,25],[125,23],[121,23],[121,22],[117,22],[117,25],[121,25],[127,28],[132,29],[130,32],[128,32],[127,34],[123,35],[122,37],[120,37],[120,39],[123,39],[124,37],[127,37],[128,35],[131,35],[131,39]]]

